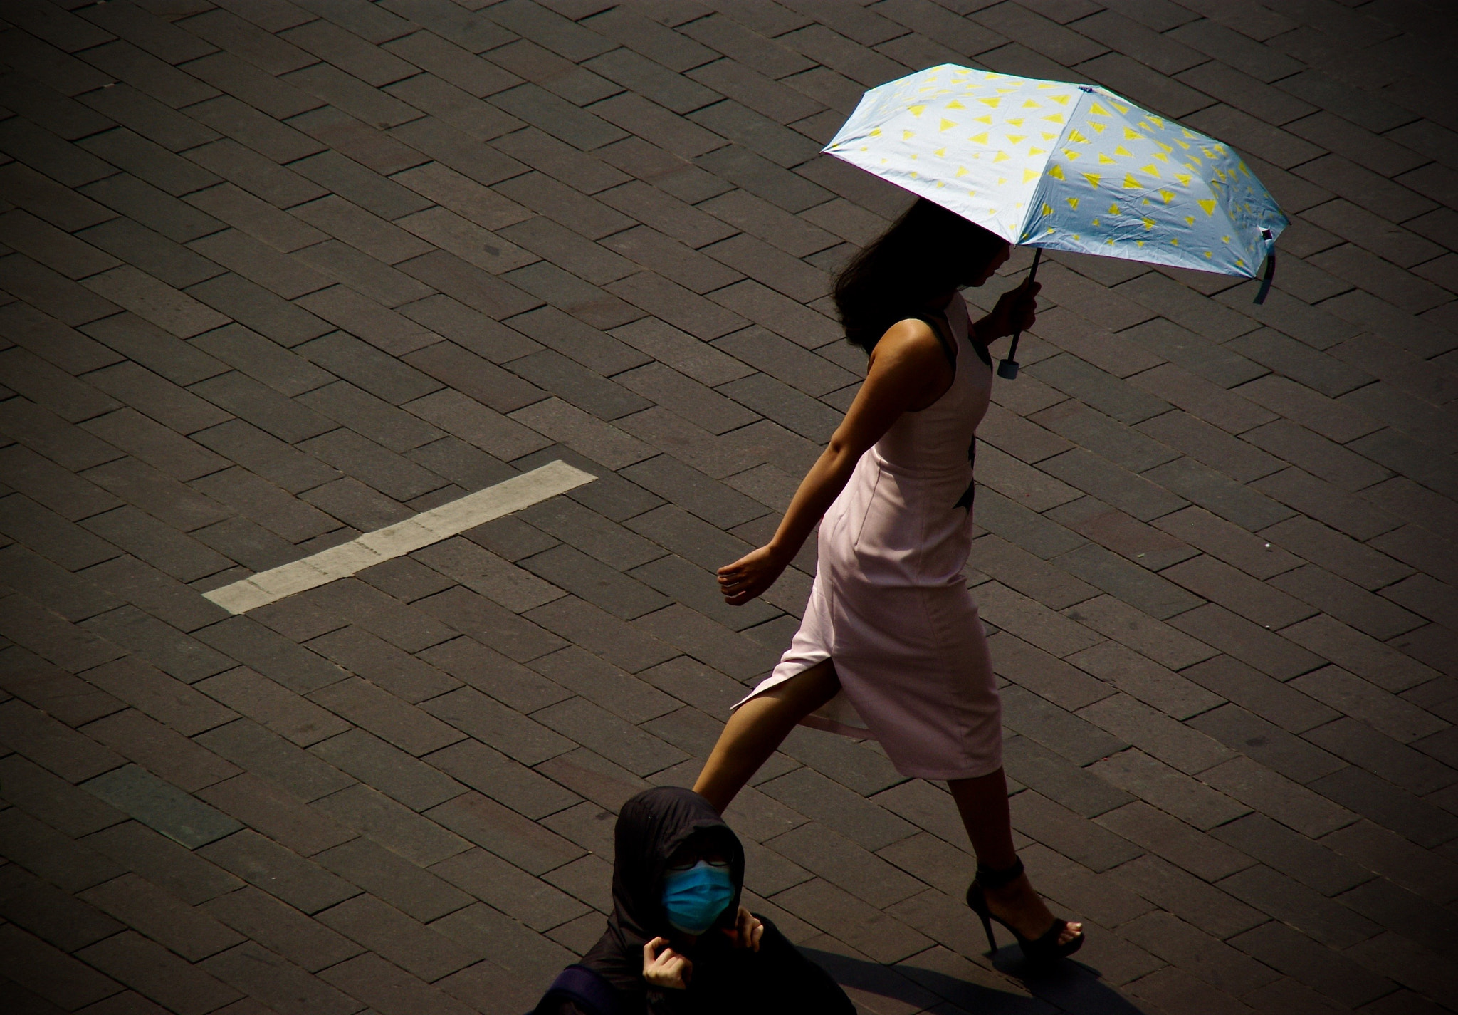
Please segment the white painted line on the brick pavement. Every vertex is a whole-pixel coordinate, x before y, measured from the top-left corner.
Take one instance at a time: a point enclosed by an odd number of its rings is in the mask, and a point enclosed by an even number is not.
[[[295,592],[328,585],[335,579],[348,578],[354,572],[459,535],[468,528],[510,515],[522,508],[531,508],[548,497],[555,497],[558,493],[592,483],[595,478],[598,477],[592,472],[583,472],[567,462],[548,462],[531,472],[522,472],[496,486],[468,493],[459,500],[420,512],[414,518],[321,550],[303,560],[295,560],[220,589],[204,592],[203,598],[211,599],[227,612],[248,612]]]

